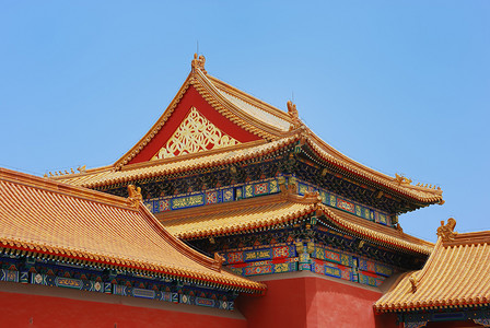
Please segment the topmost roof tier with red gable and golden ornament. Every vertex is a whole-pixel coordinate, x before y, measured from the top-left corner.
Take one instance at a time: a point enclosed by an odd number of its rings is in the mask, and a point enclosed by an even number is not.
[[[116,163],[54,178],[94,188],[226,165],[294,143],[322,165],[417,207],[443,203],[440,188],[413,186],[408,178],[387,176],[325,143],[304,126],[291,102],[283,112],[210,77],[202,56],[195,56],[189,75],[150,131]]]

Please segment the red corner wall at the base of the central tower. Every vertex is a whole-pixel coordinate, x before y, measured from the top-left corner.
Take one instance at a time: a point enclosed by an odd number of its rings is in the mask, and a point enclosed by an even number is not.
[[[264,281],[265,297],[240,297],[236,307],[248,327],[363,327],[398,328],[394,316],[374,315],[381,292],[343,284],[323,277]]]

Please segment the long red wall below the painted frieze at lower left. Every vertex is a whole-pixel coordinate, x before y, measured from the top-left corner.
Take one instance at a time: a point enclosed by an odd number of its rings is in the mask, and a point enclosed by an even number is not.
[[[115,297],[113,295],[102,296]],[[127,306],[122,304],[0,292],[0,327],[245,328],[246,321],[230,317]]]

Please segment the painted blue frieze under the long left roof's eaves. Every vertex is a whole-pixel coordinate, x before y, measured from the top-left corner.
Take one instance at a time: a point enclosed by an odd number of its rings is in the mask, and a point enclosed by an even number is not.
[[[9,268],[0,269],[0,281],[74,289],[229,311],[234,308],[234,300],[237,296],[235,292],[207,289],[184,281],[92,270],[45,259],[0,257],[0,263]],[[89,277],[93,279],[88,279]]]

